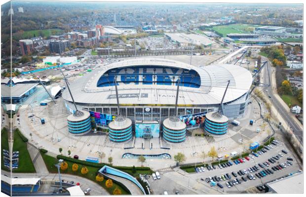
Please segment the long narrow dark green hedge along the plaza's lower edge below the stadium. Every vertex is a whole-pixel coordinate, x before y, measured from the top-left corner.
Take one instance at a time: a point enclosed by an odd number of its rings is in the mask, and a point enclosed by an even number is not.
[[[84,160],[77,160],[71,157],[66,157],[63,155],[58,155],[56,156],[57,159],[63,159],[65,161],[73,162],[76,164],[82,164],[82,165],[87,165],[87,166],[92,166],[92,167],[103,167],[104,165],[110,165],[110,164],[105,164],[105,163],[92,163],[92,162],[86,162]],[[112,166],[116,169],[120,170],[132,170],[133,166]],[[151,170],[150,167],[136,167],[136,170]]]

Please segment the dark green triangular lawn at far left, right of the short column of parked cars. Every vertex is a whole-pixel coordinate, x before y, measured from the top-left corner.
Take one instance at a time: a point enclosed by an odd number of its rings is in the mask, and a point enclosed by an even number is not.
[[[35,173],[35,167],[30,157],[27,143],[22,140],[18,132],[14,131],[13,151],[19,151],[19,166],[13,172]]]

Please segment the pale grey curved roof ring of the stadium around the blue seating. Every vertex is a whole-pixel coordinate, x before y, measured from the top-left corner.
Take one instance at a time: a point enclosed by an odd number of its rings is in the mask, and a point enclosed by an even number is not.
[[[70,88],[77,103],[116,104],[115,86],[97,87],[100,77],[109,69],[127,66],[165,66],[195,70],[201,78],[200,88],[180,87],[178,104],[220,104],[225,92],[227,81],[229,89],[224,103],[233,101],[246,94],[252,84],[251,73],[240,66],[210,65],[195,67],[182,62],[155,58],[128,59],[96,69],[86,76],[71,83]],[[145,85],[139,83],[118,86],[120,103],[125,104],[174,104],[177,86],[174,85]],[[72,101],[67,90],[63,98]]]

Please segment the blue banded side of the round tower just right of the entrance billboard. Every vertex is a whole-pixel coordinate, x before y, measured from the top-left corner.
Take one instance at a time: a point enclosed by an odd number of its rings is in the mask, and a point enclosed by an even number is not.
[[[172,143],[183,142],[186,139],[186,128],[183,130],[172,130],[172,129],[169,129],[163,126],[162,127],[162,138],[165,141],[172,142]]]

